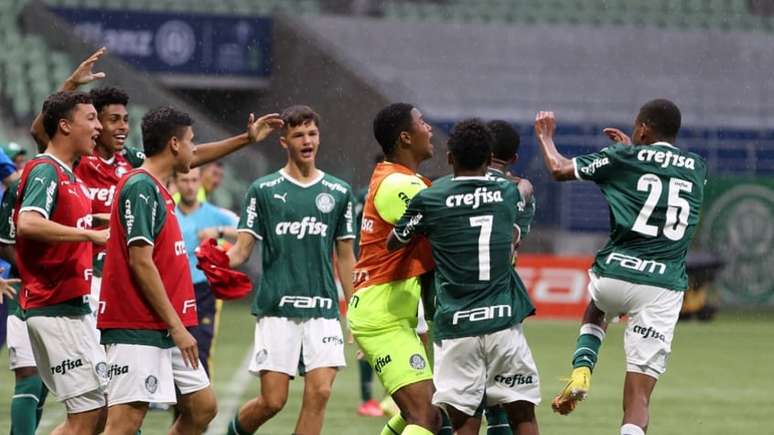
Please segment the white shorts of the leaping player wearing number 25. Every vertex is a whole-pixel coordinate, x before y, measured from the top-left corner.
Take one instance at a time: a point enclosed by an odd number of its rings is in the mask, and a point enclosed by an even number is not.
[[[605,312],[605,317],[629,317],[624,333],[626,371],[658,379],[666,371],[672,352],[683,292],[598,277],[591,272],[589,276],[591,299]]]

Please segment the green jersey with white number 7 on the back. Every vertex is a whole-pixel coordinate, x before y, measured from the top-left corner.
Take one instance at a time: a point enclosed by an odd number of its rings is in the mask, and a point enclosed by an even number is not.
[[[444,177],[419,192],[394,234],[430,240],[435,260],[434,340],[509,328],[534,312],[511,265],[521,196],[501,177]]]

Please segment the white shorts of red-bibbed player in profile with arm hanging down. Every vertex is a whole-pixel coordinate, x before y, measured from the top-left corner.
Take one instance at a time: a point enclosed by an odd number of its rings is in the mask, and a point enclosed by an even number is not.
[[[186,366],[177,347],[109,344],[107,358],[108,406],[132,402],[174,404],[175,387],[185,395],[210,385],[204,367]]]

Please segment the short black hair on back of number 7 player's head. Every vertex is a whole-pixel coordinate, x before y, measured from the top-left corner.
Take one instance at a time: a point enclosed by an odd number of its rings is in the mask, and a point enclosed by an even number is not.
[[[492,155],[494,136],[484,121],[478,118],[458,122],[449,135],[449,152],[461,169],[478,169]]]

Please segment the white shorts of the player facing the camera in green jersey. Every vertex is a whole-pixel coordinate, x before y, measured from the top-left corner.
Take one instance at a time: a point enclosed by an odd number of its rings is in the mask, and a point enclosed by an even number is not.
[[[345,367],[344,336],[338,319],[259,317],[250,373],[263,371],[296,376],[321,367]]]

